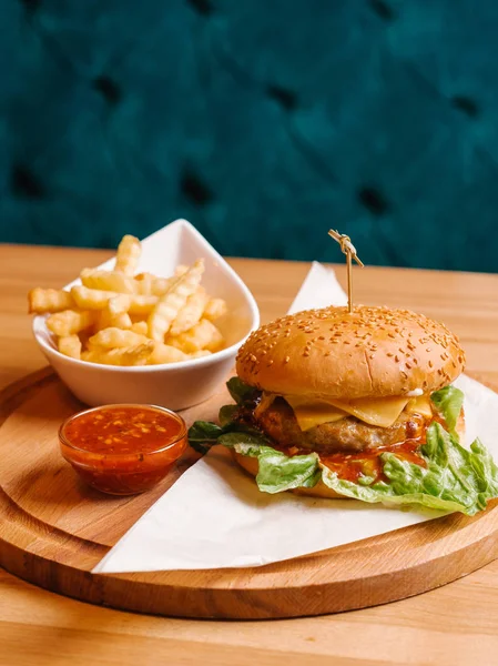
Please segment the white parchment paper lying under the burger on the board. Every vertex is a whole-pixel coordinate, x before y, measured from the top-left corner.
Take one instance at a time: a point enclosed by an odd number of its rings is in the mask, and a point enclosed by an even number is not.
[[[346,302],[334,272],[314,263],[289,312]],[[466,396],[467,443],[478,435],[498,458],[498,395],[467,376],[455,384]],[[185,472],[93,573],[262,566],[440,515],[261,493],[220,446]]]

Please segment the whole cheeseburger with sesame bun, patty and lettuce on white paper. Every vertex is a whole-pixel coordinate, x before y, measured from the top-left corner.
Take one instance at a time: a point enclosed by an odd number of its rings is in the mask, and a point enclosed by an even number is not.
[[[472,514],[498,495],[479,441],[466,448],[458,337],[408,310],[331,306],[252,333],[220,425],[194,447],[228,446],[261,491]]]

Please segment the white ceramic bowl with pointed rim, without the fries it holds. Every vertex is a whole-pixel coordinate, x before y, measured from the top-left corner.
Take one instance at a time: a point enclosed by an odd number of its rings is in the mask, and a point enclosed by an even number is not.
[[[45,316],[34,317],[34,337],[60,379],[88,405],[149,403],[183,410],[207,400],[226,381],[238,347],[260,325],[260,312],[238,275],[186,220],[176,220],[144,239],[142,249],[139,272],[162,276],[173,274],[177,264],[204,259],[203,285],[228,305],[228,314],[216,322],[227,342],[226,349],[181,363],[121,367],[77,361],[58,352]],[[100,268],[112,265],[110,260]]]

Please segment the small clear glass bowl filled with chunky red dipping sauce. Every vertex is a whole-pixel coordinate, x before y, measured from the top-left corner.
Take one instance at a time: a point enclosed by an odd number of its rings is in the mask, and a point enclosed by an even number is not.
[[[186,448],[181,416],[151,405],[105,405],[59,430],[61,452],[80,477],[111,495],[135,495],[162,481]]]

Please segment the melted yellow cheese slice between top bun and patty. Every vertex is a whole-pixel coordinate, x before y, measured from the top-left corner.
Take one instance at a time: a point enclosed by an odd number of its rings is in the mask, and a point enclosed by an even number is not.
[[[322,425],[323,423],[338,421],[349,414],[369,425],[389,427],[409,402],[408,397],[396,396],[318,402],[306,402],[302,397],[293,395],[285,395],[284,397],[294,410],[297,423],[303,431],[309,430],[315,425]],[[421,413],[419,410],[417,411]]]

